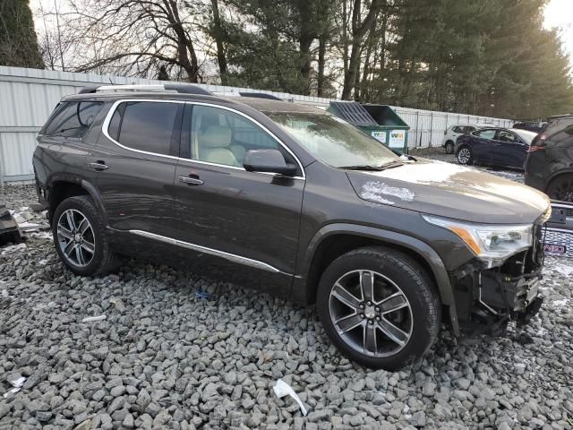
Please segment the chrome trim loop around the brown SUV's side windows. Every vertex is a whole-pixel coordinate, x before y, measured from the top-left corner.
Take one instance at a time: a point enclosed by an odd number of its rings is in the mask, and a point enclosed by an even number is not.
[[[220,105],[217,105],[214,103],[204,103],[204,102],[199,102],[199,101],[195,102],[195,101],[188,101],[188,100],[163,100],[163,99],[118,99],[118,100],[115,100],[114,104],[112,105],[112,107],[109,108],[109,111],[106,114],[106,118],[104,119],[104,123],[101,126],[101,130],[102,130],[102,133],[104,133],[104,135],[107,137],[107,139],[109,141],[114,142],[115,145],[119,146],[120,148],[123,148],[124,150],[132,150],[133,152],[139,152],[140,154],[152,155],[154,157],[163,157],[166,159],[190,161],[192,163],[199,163],[199,164],[204,164],[204,165],[208,165],[208,166],[216,166],[218,168],[229,168],[231,170],[242,170],[242,171],[246,172],[246,170],[244,168],[237,168],[235,166],[227,166],[225,164],[211,163],[209,161],[201,161],[199,159],[185,159],[183,157],[175,157],[174,155],[158,154],[157,152],[150,152],[147,150],[136,150],[134,148],[130,148],[128,146],[122,145],[120,142],[117,142],[113,137],[111,137],[109,135],[109,132],[107,130],[109,127],[109,123],[111,122],[112,116],[114,116],[114,114],[115,114],[115,110],[117,109],[117,107],[120,104],[129,103],[132,101],[148,101],[148,102],[153,102],[153,103],[178,103],[178,104],[198,105],[198,106],[207,106],[207,107],[217,107],[219,109],[224,109],[224,110],[228,110],[230,112],[233,112],[239,116],[244,116],[247,120],[249,120],[252,123],[254,123],[255,125],[258,125],[259,127],[261,127],[261,129],[264,130],[266,133],[269,133],[269,135],[275,141],[277,141],[278,144],[280,146],[282,146],[296,160],[296,164],[301,169],[301,172],[303,175],[302,176],[292,176],[291,179],[300,179],[300,180],[306,179],[306,174],[304,172],[303,163],[301,163],[300,159],[298,159],[298,157],[296,157],[295,153],[292,150],[290,150],[290,148],[288,148],[284,142],[282,142],[280,139],[278,139],[278,137],[275,135],[275,133],[272,133],[267,127],[265,127],[264,125],[261,125],[261,123],[259,121],[252,118],[251,116],[244,114],[243,112],[241,112],[239,110],[236,110],[232,107],[220,106]],[[259,175],[277,176],[277,174],[275,174],[275,173],[267,173],[267,172],[250,172],[250,173],[256,173]]]

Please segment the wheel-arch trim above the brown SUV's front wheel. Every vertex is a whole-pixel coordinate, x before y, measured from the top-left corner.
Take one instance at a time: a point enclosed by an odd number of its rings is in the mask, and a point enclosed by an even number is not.
[[[334,223],[324,226],[319,229],[314,236],[312,236],[300,266],[299,273],[302,275],[302,278],[295,280],[295,283],[297,281],[305,281],[307,279],[308,273],[311,269],[312,258],[321,242],[329,236],[338,234],[363,236],[374,240],[380,240],[381,242],[405,247],[416,254],[420,254],[432,269],[432,274],[436,280],[440,293],[441,303],[442,305],[449,306],[449,317],[452,329],[454,333],[459,336],[458,311],[456,309],[454,292],[451,282],[449,281],[449,274],[446,270],[446,266],[441,261],[440,255],[434,251],[432,246],[412,236],[406,236],[401,233],[382,228],[373,228],[356,224]]]

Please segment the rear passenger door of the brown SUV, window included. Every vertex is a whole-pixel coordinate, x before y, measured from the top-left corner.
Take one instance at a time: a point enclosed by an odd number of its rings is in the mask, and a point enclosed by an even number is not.
[[[111,228],[133,235],[171,236],[174,176],[184,103],[115,102],[89,166]]]

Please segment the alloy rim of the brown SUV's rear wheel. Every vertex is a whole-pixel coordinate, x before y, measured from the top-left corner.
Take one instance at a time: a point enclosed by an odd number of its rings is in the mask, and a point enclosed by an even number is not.
[[[74,209],[64,211],[57,221],[57,242],[65,258],[77,267],[90,264],[96,251],[90,221]]]

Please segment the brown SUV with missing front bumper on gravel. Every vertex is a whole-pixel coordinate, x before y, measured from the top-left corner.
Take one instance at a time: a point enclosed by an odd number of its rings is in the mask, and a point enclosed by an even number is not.
[[[180,84],[84,89],[47,120],[33,164],[74,273],[139,256],[315,303],[364,366],[422,357],[442,321],[456,335],[525,323],[543,300],[543,193],[398,156],[314,107]]]

